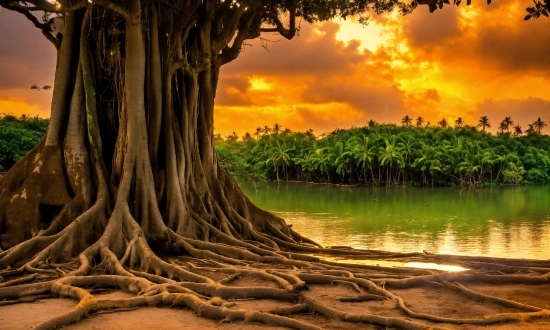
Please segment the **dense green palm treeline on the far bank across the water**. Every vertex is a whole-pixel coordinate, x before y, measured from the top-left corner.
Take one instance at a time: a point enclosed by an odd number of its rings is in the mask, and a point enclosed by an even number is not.
[[[540,119],[539,119],[540,120]],[[254,136],[215,136],[222,165],[243,179],[375,186],[550,183],[550,137],[492,135],[473,126],[369,126],[315,137],[280,125]]]

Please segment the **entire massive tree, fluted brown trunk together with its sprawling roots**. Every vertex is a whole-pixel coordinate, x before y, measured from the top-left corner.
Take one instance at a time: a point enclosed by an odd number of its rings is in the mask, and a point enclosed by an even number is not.
[[[300,252],[370,259],[447,257],[323,249],[248,200],[219,166],[212,139],[214,99],[220,68],[238,56],[245,40],[261,32],[294,35],[297,2],[275,2],[273,8],[269,3],[192,0],[172,8],[131,0],[125,8],[107,0],[83,0],[72,7],[63,2],[68,9],[62,38],[49,35],[47,25],[26,15],[54,42],[58,60],[47,135],[0,181],[0,300],[11,299],[2,303],[44,294],[80,301],[74,310],[42,323],[38,328],[43,329],[93,311],[147,304],[185,305],[210,318],[300,329],[317,327],[274,314],[309,310],[343,321],[428,327],[402,317],[336,311],[302,294],[306,282],[345,280],[430,322],[498,323],[550,315],[529,306],[529,313],[488,321],[414,313],[384,289],[385,283],[393,279],[396,287],[410,287],[439,281],[452,286],[447,277],[426,270],[337,264]],[[0,0],[0,5],[29,13],[15,2]],[[283,8],[289,12],[288,29],[275,14]],[[263,28],[266,21],[275,27]],[[170,259],[174,254],[192,262],[178,264]],[[480,262],[453,260],[472,268]],[[275,266],[261,269],[267,264]],[[520,267],[518,261],[510,264]],[[547,274],[496,281],[548,281],[547,263],[523,266]],[[214,280],[220,273],[228,277]],[[428,277],[396,279],[403,274]],[[2,283],[2,276],[13,280]],[[262,278],[279,288],[230,286],[239,276]],[[20,285],[29,281],[34,283]],[[87,286],[118,286],[142,297],[97,300],[83,289]],[[230,310],[215,297],[297,304],[271,314],[252,313]]]

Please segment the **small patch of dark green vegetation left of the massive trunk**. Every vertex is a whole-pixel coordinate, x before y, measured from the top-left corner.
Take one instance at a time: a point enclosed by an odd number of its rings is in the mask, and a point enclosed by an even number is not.
[[[40,142],[48,119],[0,114],[0,172],[9,170]]]

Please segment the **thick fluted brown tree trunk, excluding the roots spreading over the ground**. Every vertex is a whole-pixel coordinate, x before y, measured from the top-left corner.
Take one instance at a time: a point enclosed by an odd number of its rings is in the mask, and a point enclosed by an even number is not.
[[[2,249],[28,242],[31,257],[44,245],[75,240],[75,232],[83,234],[78,244],[52,248],[48,257],[76,257],[93,242],[121,255],[134,239],[257,241],[271,248],[301,241],[282,219],[250,203],[213,148],[220,67],[259,34],[259,25],[228,47],[236,22],[223,26],[201,1],[163,20],[156,4],[105,6],[65,16],[47,135],[3,178]],[[244,10],[229,13],[225,19],[241,19]],[[2,254],[0,264],[13,262],[11,254]]]

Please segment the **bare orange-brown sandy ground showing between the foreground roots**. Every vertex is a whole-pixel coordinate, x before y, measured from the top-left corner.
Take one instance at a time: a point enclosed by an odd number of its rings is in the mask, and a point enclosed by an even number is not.
[[[245,285],[246,283],[239,283]],[[470,285],[469,288],[478,292],[514,299],[519,302],[550,309],[550,284],[548,285]],[[493,303],[473,301],[460,293],[445,288],[414,288],[406,290],[390,290],[401,296],[407,305],[415,312],[430,313],[438,316],[453,318],[472,318],[484,315],[517,312],[512,308],[505,308]],[[368,312],[381,316],[406,317],[396,308],[394,302],[367,301],[358,303],[342,303],[337,298],[353,295],[353,290],[347,286],[310,286],[306,296],[315,297],[327,306],[350,311]],[[127,298],[132,295],[120,291],[107,291],[98,295],[102,299]],[[290,306],[290,303],[272,300],[238,300],[232,308],[269,311],[276,307]],[[43,299],[33,303],[21,303],[0,307],[0,329],[26,330],[51,317],[63,314],[76,306],[75,301],[67,299]],[[354,324],[328,320],[314,314],[300,314],[295,316],[325,329],[382,329],[369,324]],[[428,322],[426,322],[428,324]],[[432,325],[436,325],[431,323]],[[437,324],[450,329],[550,329],[550,318],[536,319],[527,322],[497,324],[491,326],[450,325]],[[67,330],[107,329],[107,330],[172,330],[172,329],[284,329],[258,323],[220,323],[198,317],[192,311],[176,308],[144,307],[129,311],[114,311],[109,313],[93,314],[80,320],[76,324],[63,327]]]

